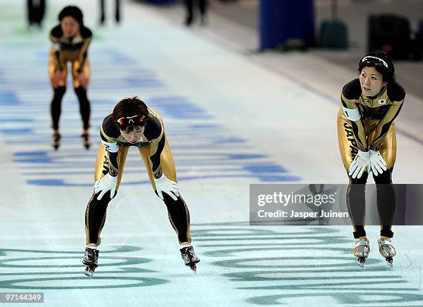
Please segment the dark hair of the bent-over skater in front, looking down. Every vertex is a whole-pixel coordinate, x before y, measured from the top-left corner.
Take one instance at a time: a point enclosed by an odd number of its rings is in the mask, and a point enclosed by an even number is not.
[[[119,118],[129,118],[131,116],[141,115],[144,116],[142,122],[129,122],[128,126],[125,129],[122,129],[126,132],[130,132],[133,129],[137,129],[138,127],[143,127],[147,123],[147,119],[149,118],[149,109],[147,109],[147,104],[145,104],[140,98],[138,97],[129,97],[124,98],[115,105],[113,109],[113,122],[118,129],[121,127],[118,124]]]

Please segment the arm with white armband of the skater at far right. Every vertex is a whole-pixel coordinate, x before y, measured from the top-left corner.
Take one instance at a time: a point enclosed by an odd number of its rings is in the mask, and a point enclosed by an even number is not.
[[[367,151],[366,130],[364,129],[363,120],[361,120],[361,113],[358,109],[357,100],[361,94],[358,80],[353,80],[344,86],[341,91],[341,103],[344,109],[346,118],[350,120],[351,127],[359,150]],[[358,85],[358,86],[357,86]]]

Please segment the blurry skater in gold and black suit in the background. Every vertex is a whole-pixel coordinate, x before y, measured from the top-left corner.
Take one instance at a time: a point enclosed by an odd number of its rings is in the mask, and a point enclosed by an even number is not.
[[[90,64],[88,46],[93,37],[90,29],[84,26],[82,11],[76,6],[66,6],[59,13],[60,24],[50,31],[49,66],[50,82],[53,86],[53,100],[50,105],[53,128],[53,147],[60,146],[59,118],[62,113],[62,98],[66,92],[68,62],[72,63],[73,89],[79,100],[79,111],[82,116],[82,142],[86,149],[90,148],[88,135],[90,127],[91,106],[86,95],[90,82]]]

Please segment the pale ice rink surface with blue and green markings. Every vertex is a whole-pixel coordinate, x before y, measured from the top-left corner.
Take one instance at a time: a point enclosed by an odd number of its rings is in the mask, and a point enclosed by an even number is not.
[[[336,114],[354,71],[308,53],[247,55],[236,45],[241,34],[227,44],[227,33],[189,30],[133,1],[123,1],[122,25],[100,28],[97,1],[73,1],[95,35],[95,146],[81,145],[68,86],[62,147],[53,151],[48,30],[67,2],[48,3],[43,30],[26,28],[23,2],[0,4],[0,292],[44,292],[45,306],[423,306],[421,226],[395,227],[393,270],[377,252],[378,227],[368,227],[371,253],[361,270],[350,226],[248,223],[252,183],[348,182]],[[83,275],[100,123],[133,95],[164,118],[201,259],[197,276],[180,259],[136,150],[109,205],[100,267],[93,279]],[[413,118],[422,101],[408,101],[397,120],[393,180],[422,183],[422,123]]]

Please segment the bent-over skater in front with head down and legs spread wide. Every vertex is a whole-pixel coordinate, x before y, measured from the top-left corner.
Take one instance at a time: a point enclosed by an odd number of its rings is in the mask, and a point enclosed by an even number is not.
[[[180,243],[185,265],[196,270],[200,261],[191,245],[189,211],[179,194],[176,169],[164,133],[160,115],[138,97],[121,100],[104,118],[100,129],[101,143],[95,162],[94,193],[86,207],[86,275],[97,268],[100,233],[106,221],[107,205],[120,186],[122,172],[131,146],[138,147],[149,174],[151,186],[167,207],[169,221]]]

